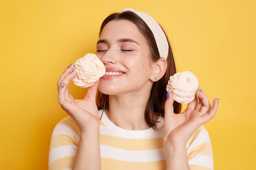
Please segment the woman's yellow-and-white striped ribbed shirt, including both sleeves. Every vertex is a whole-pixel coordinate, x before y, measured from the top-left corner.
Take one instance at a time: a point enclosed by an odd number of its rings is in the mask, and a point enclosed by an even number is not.
[[[99,110],[101,116],[102,110]],[[100,120],[102,170],[165,170],[162,125],[157,129],[125,130],[113,124],[103,112]],[[49,170],[72,170],[81,132],[71,117],[65,117],[54,128]],[[213,170],[213,154],[207,130],[201,126],[186,144],[191,170]]]

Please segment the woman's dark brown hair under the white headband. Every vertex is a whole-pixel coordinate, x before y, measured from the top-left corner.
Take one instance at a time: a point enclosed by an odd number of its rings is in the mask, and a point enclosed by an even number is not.
[[[148,43],[151,60],[153,62],[156,62],[160,58],[153,33],[149,29],[148,25],[137,14],[131,11],[125,11],[122,13],[113,13],[109,15],[101,24],[99,36],[101,35],[101,31],[103,30],[104,26],[106,26],[106,24],[108,24],[108,22],[112,20],[128,20],[134,23],[138,27],[140,33],[144,36],[145,40]],[[168,38],[167,38],[167,41],[168,41]],[[166,60],[167,61],[166,73],[161,79],[153,83],[153,86],[150,92],[150,97],[148,99],[148,103],[145,109],[145,120],[148,126],[150,127],[154,127],[157,122],[157,120],[154,119],[154,115],[164,116],[164,103],[166,101],[166,85],[168,83],[169,77],[176,73],[175,61],[173,58],[173,53],[172,53],[169,41],[168,41],[168,44],[169,44],[169,52]],[[109,108],[108,95],[98,91],[97,106],[98,106],[98,109]],[[173,107],[174,107],[174,113],[180,113],[181,104],[174,101]]]

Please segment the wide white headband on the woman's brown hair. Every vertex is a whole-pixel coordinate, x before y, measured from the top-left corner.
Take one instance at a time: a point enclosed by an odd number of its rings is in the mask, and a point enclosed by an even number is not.
[[[136,11],[132,8],[125,8],[122,12],[124,11],[132,11],[133,13],[139,15],[139,17],[144,20],[144,22],[146,22],[155,37],[155,42],[157,43],[157,49],[159,51],[160,57],[166,60],[168,56],[169,46],[164,31],[162,30],[161,26],[156,22],[156,20],[154,20],[154,18],[152,18],[148,14],[141,11]]]

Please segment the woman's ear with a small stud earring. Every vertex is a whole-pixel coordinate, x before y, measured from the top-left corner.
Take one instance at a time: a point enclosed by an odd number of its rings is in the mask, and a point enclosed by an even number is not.
[[[164,58],[159,58],[157,62],[153,64],[153,73],[150,76],[150,80],[153,82],[157,82],[164,76],[166,72],[167,62]]]

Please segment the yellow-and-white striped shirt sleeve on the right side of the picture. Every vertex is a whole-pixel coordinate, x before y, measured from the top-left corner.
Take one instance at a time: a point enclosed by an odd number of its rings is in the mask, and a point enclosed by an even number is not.
[[[213,170],[211,140],[204,126],[191,136],[186,147],[190,170]]]

